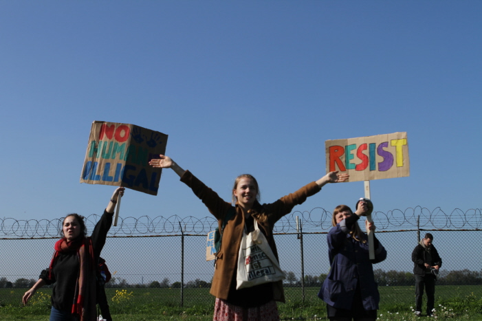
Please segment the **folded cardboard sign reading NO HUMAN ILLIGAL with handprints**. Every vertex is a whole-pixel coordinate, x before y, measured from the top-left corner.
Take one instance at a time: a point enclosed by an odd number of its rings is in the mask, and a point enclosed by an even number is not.
[[[133,124],[92,123],[80,183],[123,186],[157,195],[161,168],[149,161],[166,151],[167,137]]]

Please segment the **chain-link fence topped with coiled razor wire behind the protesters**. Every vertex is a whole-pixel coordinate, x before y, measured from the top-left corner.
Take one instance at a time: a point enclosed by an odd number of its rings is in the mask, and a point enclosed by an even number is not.
[[[300,230],[296,230],[299,217]],[[415,278],[411,253],[426,231],[443,265],[437,280],[436,296],[482,296],[481,209],[453,210],[408,208],[405,211],[375,212],[376,236],[388,256],[373,266],[382,304],[415,302]],[[92,230],[98,216],[87,217]],[[363,226],[363,222],[359,222]],[[206,261],[206,234],[214,230],[212,217],[132,217],[120,219],[112,227],[102,257],[113,274],[107,283],[108,296],[116,289],[132,289],[138,300],[156,304],[212,304],[208,294],[213,261]],[[0,219],[0,288],[30,287],[52,258],[61,219],[18,221]],[[316,294],[329,272],[326,234],[331,213],[322,208],[294,212],[275,225],[276,246],[285,270],[288,302],[322,302]],[[131,291],[131,290],[129,290]],[[8,292],[4,292],[7,294]],[[155,294],[158,294],[157,296]]]

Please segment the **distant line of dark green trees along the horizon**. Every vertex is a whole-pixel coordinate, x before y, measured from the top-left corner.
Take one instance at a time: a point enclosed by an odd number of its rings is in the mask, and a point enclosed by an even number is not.
[[[375,281],[380,286],[409,286],[415,285],[415,277],[412,272],[403,271],[384,271],[382,269],[375,269]],[[286,272],[286,278],[283,280],[285,287],[300,287],[301,280],[296,277],[294,272]],[[327,274],[320,274],[319,276],[305,275],[305,287],[320,287]],[[33,278],[17,278],[14,282],[10,282],[6,277],[0,277],[0,288],[30,288],[37,280]],[[479,272],[470,271],[469,269],[453,270],[453,271],[440,271],[437,276],[437,285],[482,285],[482,270]],[[52,285],[48,286],[52,287]],[[105,287],[127,288],[127,287],[140,287],[140,288],[181,288],[180,282],[171,283],[168,278],[164,278],[161,281],[152,281],[149,284],[132,284],[128,283],[124,278],[112,277],[111,280],[106,283]],[[209,288],[211,283],[208,283],[199,278],[190,280],[184,283],[185,288]]]

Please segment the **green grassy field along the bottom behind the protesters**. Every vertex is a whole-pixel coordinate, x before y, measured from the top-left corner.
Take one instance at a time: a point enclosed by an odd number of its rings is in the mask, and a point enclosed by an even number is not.
[[[51,289],[39,290],[29,305],[21,298],[27,289],[0,289],[0,320],[47,321],[50,313]],[[325,303],[317,294],[318,287],[305,288],[305,302],[300,288],[285,288],[285,304],[279,304],[281,320],[324,320]],[[380,287],[380,320],[415,320],[413,318],[414,287]],[[116,321],[131,320],[212,320],[214,298],[209,289],[107,289],[111,313]],[[438,318],[482,320],[480,286],[437,286]],[[441,306],[439,306],[441,305]],[[451,309],[451,310],[450,310]]]

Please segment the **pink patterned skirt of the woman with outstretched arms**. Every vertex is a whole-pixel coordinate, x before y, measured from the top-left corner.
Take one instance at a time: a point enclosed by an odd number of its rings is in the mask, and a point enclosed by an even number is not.
[[[273,300],[261,307],[243,308],[216,298],[213,321],[279,321],[278,306]]]

